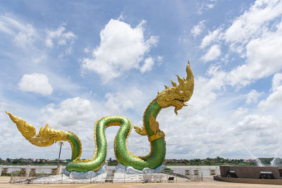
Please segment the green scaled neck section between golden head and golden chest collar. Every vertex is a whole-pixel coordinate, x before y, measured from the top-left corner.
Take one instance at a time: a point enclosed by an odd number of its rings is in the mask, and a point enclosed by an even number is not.
[[[156,119],[157,115],[159,114],[159,111],[161,111],[161,106],[157,103],[156,99],[154,99],[149,106],[146,108],[146,111],[143,115],[143,124],[146,127],[148,136],[152,136],[154,132],[152,132],[150,126],[149,126],[149,121],[150,121],[150,115],[152,113],[153,117]]]

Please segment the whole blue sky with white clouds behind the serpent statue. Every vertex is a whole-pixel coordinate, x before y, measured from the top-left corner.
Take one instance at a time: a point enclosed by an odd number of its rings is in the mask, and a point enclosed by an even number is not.
[[[58,158],[37,147],[5,111],[70,130],[82,158],[94,152],[94,122],[125,115],[142,125],[164,84],[185,76],[189,106],[166,108],[166,158],[282,157],[282,1],[0,2],[0,158]],[[118,127],[106,130],[114,158]],[[147,155],[131,132],[128,148]],[[62,158],[71,158],[63,145]]]

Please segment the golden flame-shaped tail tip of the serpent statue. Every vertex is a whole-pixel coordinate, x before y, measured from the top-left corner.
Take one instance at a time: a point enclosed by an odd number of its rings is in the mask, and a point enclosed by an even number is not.
[[[16,117],[12,113],[6,113],[9,115],[13,123],[16,123],[18,130],[23,134],[23,137],[35,146],[51,146],[54,142],[58,142],[60,140],[66,141],[68,132],[63,130],[54,130],[47,124],[45,127],[41,127],[38,134],[36,134],[36,130],[33,125]]]

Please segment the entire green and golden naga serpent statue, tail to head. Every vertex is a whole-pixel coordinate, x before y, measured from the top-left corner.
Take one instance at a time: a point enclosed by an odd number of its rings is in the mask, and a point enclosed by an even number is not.
[[[194,76],[190,68],[190,63],[186,68],[187,77],[181,79],[178,75],[177,85],[171,80],[172,87],[165,86],[163,92],[159,92],[157,97],[147,106],[143,115],[143,126],[134,126],[135,131],[141,135],[147,135],[151,144],[151,151],[147,156],[135,156],[127,147],[127,139],[132,129],[132,123],[128,118],[121,115],[111,115],[100,118],[94,125],[95,151],[92,158],[88,160],[79,160],[82,146],[80,139],[73,132],[63,130],[54,130],[47,124],[41,127],[36,134],[35,127],[25,120],[8,113],[13,123],[16,123],[18,130],[23,137],[36,146],[51,146],[59,141],[68,141],[71,144],[72,156],[71,163],[66,165],[66,170],[87,172],[90,170],[97,171],[104,164],[106,159],[106,127],[120,126],[114,141],[114,152],[116,160],[125,166],[142,170],[143,168],[157,168],[164,162],[166,156],[166,142],[164,132],[159,129],[159,123],[156,118],[161,108],[174,106],[174,112],[180,110],[186,101],[190,99],[194,89]]]

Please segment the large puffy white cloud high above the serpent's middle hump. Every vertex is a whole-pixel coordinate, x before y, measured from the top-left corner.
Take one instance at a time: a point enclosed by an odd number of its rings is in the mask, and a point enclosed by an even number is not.
[[[140,61],[158,42],[155,36],[144,39],[144,24],[142,20],[132,28],[128,23],[111,19],[100,32],[100,45],[92,52],[92,58],[83,59],[82,68],[99,74],[104,83],[132,68],[140,68]]]

